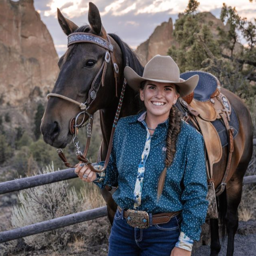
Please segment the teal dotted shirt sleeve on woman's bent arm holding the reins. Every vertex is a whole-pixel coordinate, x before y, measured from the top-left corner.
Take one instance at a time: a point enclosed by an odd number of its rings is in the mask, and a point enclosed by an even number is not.
[[[117,186],[118,170],[116,167],[116,148],[119,134],[119,126],[120,124],[118,122],[113,136],[113,146],[107,168],[103,172],[96,172],[96,179],[93,181],[93,183],[95,183],[100,188],[104,188],[106,185],[108,185],[109,187]],[[101,170],[103,169],[104,164],[105,161],[101,161],[94,167]]]

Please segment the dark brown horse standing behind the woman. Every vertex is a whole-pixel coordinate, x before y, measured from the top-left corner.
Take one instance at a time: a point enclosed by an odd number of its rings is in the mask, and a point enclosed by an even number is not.
[[[98,8],[89,3],[88,21],[89,25],[77,26],[65,18],[58,10],[58,21],[63,32],[69,36],[72,33],[87,33],[103,38],[113,46],[112,55],[119,70],[111,64],[106,66],[105,82],[101,82],[95,100],[90,104],[90,114],[100,111],[100,127],[103,140],[98,153],[98,161],[106,159],[108,145],[110,143],[111,129],[119,104],[119,97],[124,81],[124,67],[128,64],[137,74],[142,76],[143,66],[129,46],[116,34],[107,34],[102,26]],[[94,78],[106,56],[106,49],[96,43],[74,43],[69,46],[66,53],[59,59],[60,72],[53,87],[52,93],[60,94],[77,102],[84,102],[89,97],[88,93]],[[116,76],[116,79],[115,79]],[[232,102],[235,109],[240,130],[234,139],[234,152],[227,177],[227,186],[218,197],[220,213],[224,216],[224,226],[227,227],[228,245],[227,256],[233,255],[234,236],[238,228],[238,205],[242,195],[243,176],[248,167],[253,149],[253,129],[250,112],[242,100],[228,90],[222,93]],[[116,97],[117,96],[117,97]],[[123,105],[119,117],[137,114],[142,105],[137,92],[127,86]],[[50,97],[42,118],[41,132],[45,143],[56,148],[65,148],[72,140],[70,132],[70,120],[80,112],[79,106],[63,98]],[[85,118],[86,121],[88,117]],[[228,147],[223,148],[222,159],[214,165],[215,188],[219,186],[224,175],[224,167],[227,162]],[[100,190],[107,204],[108,218],[113,224],[113,217],[117,205],[113,201],[111,193],[106,188]],[[211,256],[217,256],[221,249],[219,242],[218,219],[210,219],[211,226]]]

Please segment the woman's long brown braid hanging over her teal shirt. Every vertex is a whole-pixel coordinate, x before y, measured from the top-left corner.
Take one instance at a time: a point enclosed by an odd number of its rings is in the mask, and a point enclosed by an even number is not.
[[[172,164],[176,152],[176,140],[180,132],[181,113],[176,106],[172,106],[169,114],[169,127],[166,138],[166,158],[165,167],[158,179],[157,201],[161,197],[164,188],[164,181],[166,177],[167,168]]]

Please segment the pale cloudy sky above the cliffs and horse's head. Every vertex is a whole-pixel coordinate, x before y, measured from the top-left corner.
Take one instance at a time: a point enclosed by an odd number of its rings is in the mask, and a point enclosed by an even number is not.
[[[153,33],[156,26],[184,12],[188,0],[91,0],[99,9],[108,33],[116,33],[132,48],[137,48]],[[66,51],[67,36],[57,20],[57,8],[78,26],[88,23],[89,0],[34,0],[34,7],[46,24],[59,56]],[[223,2],[236,7],[248,20],[256,18],[256,0],[199,0],[199,11],[210,11],[219,18]]]

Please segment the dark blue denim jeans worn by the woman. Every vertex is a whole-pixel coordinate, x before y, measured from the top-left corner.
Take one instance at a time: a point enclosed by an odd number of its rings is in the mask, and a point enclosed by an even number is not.
[[[114,216],[113,226],[108,242],[108,256],[170,256],[178,241],[182,214],[178,214],[164,224],[150,227],[131,227],[123,216],[124,210],[118,210]]]

